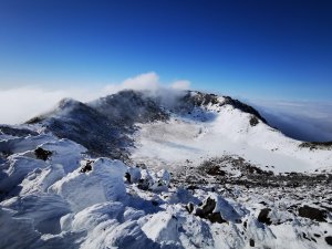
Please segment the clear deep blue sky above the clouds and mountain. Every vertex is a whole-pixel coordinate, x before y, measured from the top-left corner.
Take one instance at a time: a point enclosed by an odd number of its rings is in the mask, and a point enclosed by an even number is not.
[[[0,86],[155,71],[194,89],[332,101],[332,1],[0,0]]]

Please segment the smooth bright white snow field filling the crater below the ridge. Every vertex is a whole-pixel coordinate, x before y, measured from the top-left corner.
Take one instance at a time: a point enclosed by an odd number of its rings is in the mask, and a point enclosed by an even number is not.
[[[219,97],[219,102],[224,98]],[[286,137],[261,121],[251,126],[251,116],[231,105],[210,104],[190,114],[174,114],[166,123],[139,124],[132,158],[175,170],[180,170],[187,160],[197,166],[224,155],[241,156],[274,173],[332,168],[331,151],[301,148],[302,142]]]

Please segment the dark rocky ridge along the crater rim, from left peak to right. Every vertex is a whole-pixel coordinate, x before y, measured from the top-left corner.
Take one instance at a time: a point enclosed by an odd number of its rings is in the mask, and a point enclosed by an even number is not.
[[[215,94],[184,91],[177,100],[178,103],[167,110],[158,96],[152,97],[144,92],[126,90],[90,103],[64,98],[53,111],[33,117],[25,124],[40,124],[59,137],[84,145],[93,155],[124,159],[127,157],[125,147],[133,146],[129,135],[137,128],[135,123],[167,121],[172,111],[180,115],[180,111],[191,112],[195,107],[210,104],[231,105],[266,123],[251,106],[229,96],[225,100],[221,103]]]

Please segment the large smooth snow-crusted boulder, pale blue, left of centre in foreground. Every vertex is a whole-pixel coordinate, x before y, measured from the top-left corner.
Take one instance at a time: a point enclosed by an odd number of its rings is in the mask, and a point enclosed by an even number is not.
[[[52,185],[49,190],[61,195],[73,210],[82,210],[94,204],[125,198],[124,175],[127,167],[120,160],[98,158],[92,170],[76,169]]]

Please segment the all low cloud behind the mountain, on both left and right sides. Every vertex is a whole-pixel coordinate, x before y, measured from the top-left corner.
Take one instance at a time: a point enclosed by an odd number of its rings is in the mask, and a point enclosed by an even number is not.
[[[0,89],[0,124],[19,124],[51,111],[59,101],[72,97],[90,102],[125,89],[149,90],[172,103],[177,90],[189,90],[187,80],[163,83],[155,72],[143,73],[118,84],[100,89],[69,87],[48,90],[43,87]],[[245,101],[255,106],[271,126],[300,141],[332,141],[332,103]]]

